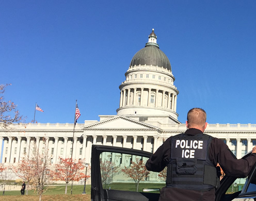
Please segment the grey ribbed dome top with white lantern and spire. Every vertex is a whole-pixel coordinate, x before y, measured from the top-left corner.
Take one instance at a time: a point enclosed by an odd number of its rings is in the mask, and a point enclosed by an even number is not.
[[[163,67],[171,71],[171,64],[168,57],[159,49],[159,45],[156,43],[154,29],[152,29],[149,35],[149,42],[133,56],[130,67],[145,64]]]

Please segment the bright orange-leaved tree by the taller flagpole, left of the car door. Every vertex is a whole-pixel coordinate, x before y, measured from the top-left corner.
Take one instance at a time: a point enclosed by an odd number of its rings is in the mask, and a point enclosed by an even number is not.
[[[79,181],[80,179],[89,177],[83,173],[84,169],[84,160],[77,161],[72,158],[60,158],[60,163],[55,164],[55,172],[53,173],[53,179],[66,182],[65,194],[67,194],[67,187],[70,181]]]

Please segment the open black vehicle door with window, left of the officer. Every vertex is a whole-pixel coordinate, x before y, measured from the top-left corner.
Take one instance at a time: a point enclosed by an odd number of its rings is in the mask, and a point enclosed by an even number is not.
[[[157,201],[160,189],[165,186],[165,180],[158,176],[159,173],[150,172],[138,184],[131,178],[143,174],[145,163],[151,155],[137,149],[92,145],[91,200]],[[140,170],[131,169],[139,161]],[[125,167],[130,168],[132,176],[123,172]]]

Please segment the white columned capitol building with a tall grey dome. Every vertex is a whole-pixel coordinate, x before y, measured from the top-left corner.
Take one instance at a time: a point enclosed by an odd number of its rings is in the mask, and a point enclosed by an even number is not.
[[[119,86],[116,115],[99,115],[99,121],[86,120],[75,129],[68,123],[28,123],[1,129],[0,162],[11,169],[33,153],[32,143],[39,150],[46,143],[52,164],[59,158],[70,158],[72,144],[72,157],[90,164],[92,144],[154,153],[167,138],[184,132],[186,125],[179,122],[177,113],[179,90],[174,85],[170,61],[156,40],[152,29],[145,47],[133,56]],[[256,124],[208,124],[205,133],[225,141],[237,158],[256,145]]]

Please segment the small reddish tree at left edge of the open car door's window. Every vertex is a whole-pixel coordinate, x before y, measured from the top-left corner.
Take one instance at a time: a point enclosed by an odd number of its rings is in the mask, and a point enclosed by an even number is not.
[[[101,161],[101,181],[102,181],[102,185],[105,184],[105,188],[106,188],[107,179],[110,178],[110,175],[113,175],[116,172],[117,172],[117,166],[115,163],[107,160]]]

